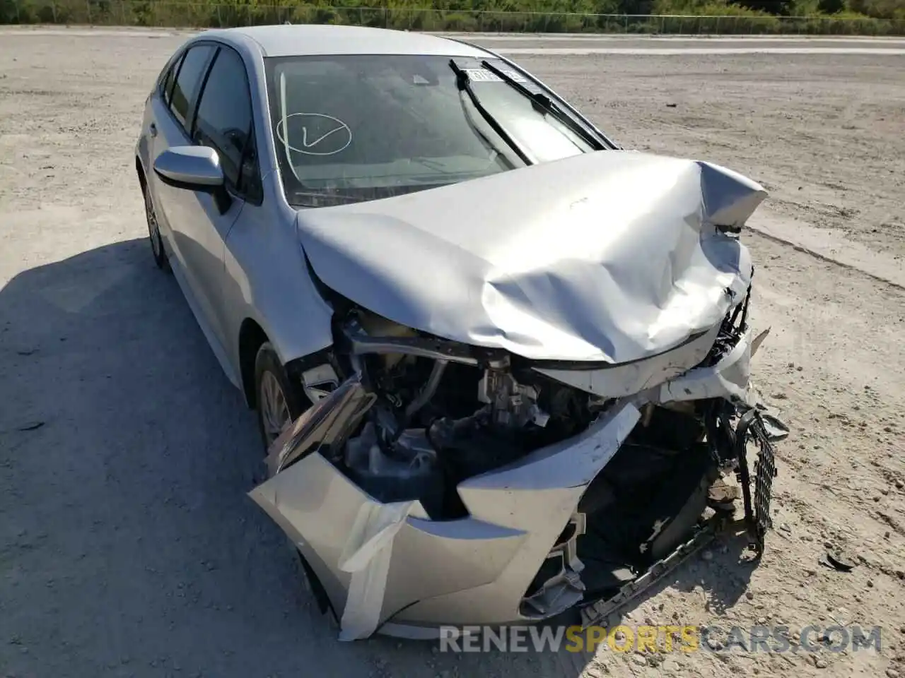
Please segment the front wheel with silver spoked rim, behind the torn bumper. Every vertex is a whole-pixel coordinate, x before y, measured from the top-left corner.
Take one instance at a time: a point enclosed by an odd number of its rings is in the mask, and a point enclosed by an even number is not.
[[[310,403],[286,375],[270,342],[261,344],[254,361],[254,392],[264,453]]]

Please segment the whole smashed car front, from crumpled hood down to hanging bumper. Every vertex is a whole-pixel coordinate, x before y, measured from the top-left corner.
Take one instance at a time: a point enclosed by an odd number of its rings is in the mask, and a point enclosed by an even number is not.
[[[300,213],[347,299],[336,384],[250,494],[343,639],[593,611],[687,551],[733,475],[762,548],[785,431],[750,381],[737,231],[764,195],[606,152]]]

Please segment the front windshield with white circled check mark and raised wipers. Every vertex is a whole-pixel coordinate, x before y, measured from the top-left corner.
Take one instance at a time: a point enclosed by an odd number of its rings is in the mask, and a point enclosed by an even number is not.
[[[456,58],[457,68],[436,56],[266,61],[280,174],[293,205],[374,200],[596,149],[593,134],[577,135],[477,59]],[[488,62],[531,94],[549,94],[504,61]],[[457,86],[460,69],[483,113]]]

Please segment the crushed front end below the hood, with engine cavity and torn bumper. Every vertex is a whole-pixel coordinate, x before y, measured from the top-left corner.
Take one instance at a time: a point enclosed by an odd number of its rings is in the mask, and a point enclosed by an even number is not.
[[[529,361],[349,304],[333,352],[301,375],[315,404],[252,498],[344,639],[569,608],[593,623],[739,498],[763,549],[785,430],[749,381],[749,294],[671,351],[616,365]]]

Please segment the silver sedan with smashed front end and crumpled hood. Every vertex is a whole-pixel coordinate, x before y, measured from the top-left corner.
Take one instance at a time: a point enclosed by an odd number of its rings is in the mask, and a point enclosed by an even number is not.
[[[321,25],[191,38],[136,171],[340,637],[594,623],[738,500],[762,551],[759,184],[624,150],[481,47]]]

